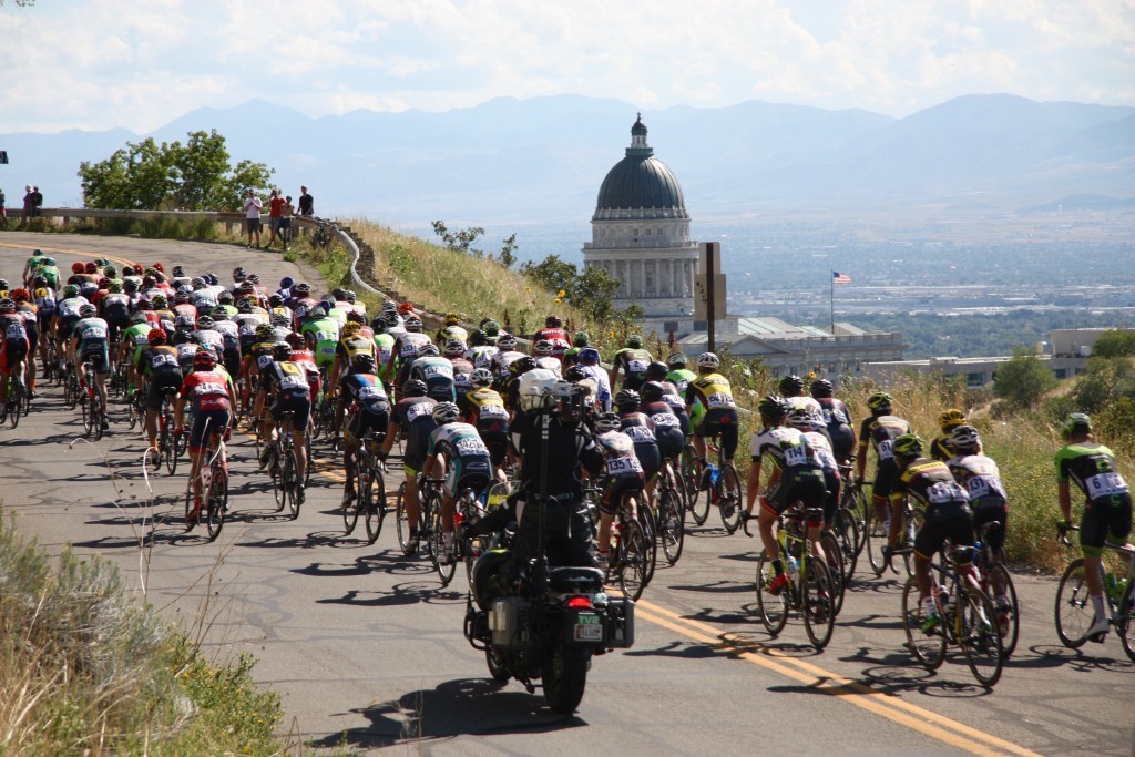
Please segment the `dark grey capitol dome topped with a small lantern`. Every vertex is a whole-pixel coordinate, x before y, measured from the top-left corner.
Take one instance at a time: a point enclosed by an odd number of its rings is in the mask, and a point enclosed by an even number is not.
[[[627,218],[627,211],[640,210],[651,211],[650,218],[689,218],[681,185],[670,168],[654,157],[646,135],[640,113],[631,128],[627,157],[607,171],[599,186],[595,218],[609,218],[612,211]]]

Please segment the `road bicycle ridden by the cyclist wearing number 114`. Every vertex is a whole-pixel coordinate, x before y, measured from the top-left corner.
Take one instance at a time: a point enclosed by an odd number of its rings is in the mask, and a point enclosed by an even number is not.
[[[827,565],[809,554],[806,522],[815,522],[824,516],[823,508],[800,507],[793,503],[776,519],[776,544],[788,573],[788,583],[773,594],[771,584],[776,578],[772,561],[762,550],[757,562],[756,594],[757,612],[765,630],[773,637],[780,636],[788,623],[790,611],[804,617],[804,628],[816,650],[822,650],[832,639],[835,628],[836,586]],[[745,516],[746,536],[751,537],[749,521]]]

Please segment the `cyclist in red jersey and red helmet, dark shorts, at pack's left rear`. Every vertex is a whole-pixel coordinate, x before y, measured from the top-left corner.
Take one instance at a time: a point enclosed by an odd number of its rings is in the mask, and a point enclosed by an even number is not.
[[[190,430],[190,481],[193,486],[193,508],[186,522],[190,527],[201,514],[201,463],[211,446],[210,441],[220,435],[228,437],[232,421],[232,384],[217,370],[217,355],[211,350],[197,352],[193,359],[193,371],[182,381],[174,419],[177,431],[185,428],[185,405],[192,403],[193,427]],[[208,437],[207,437],[208,435]],[[221,464],[227,464],[221,460]]]

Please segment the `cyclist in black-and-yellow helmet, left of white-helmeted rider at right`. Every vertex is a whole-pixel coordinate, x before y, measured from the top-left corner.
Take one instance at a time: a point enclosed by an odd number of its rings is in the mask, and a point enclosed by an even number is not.
[[[894,485],[890,494],[893,512],[901,511],[907,496],[926,508],[926,520],[915,535],[915,581],[922,600],[922,629],[930,633],[942,620],[930,594],[930,561],[947,539],[955,547],[973,546],[974,520],[969,497],[953,480],[945,463],[923,456],[923,440],[917,435],[900,434],[892,440],[891,449],[894,453]],[[888,560],[898,542],[898,516],[892,518],[890,542],[884,549]],[[977,586],[968,556],[958,560],[958,570],[968,583]]]

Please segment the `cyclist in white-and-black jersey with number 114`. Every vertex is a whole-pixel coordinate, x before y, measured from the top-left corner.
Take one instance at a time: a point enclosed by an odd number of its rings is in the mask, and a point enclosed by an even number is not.
[[[741,518],[753,518],[753,507],[760,493],[762,461],[767,456],[773,464],[768,478],[768,489],[760,495],[760,512],[757,514],[757,530],[773,565],[773,577],[768,581],[770,594],[779,595],[788,586],[789,577],[784,573],[784,562],[780,556],[780,544],[773,536],[773,525],[785,510],[796,502],[805,508],[823,507],[826,496],[823,466],[813,449],[812,441],[798,429],[784,426],[789,405],[783,397],[771,394],[757,403],[762,429],[753,435],[749,443],[751,465],[746,496],[745,512]],[[809,420],[810,424],[810,420]],[[823,547],[819,546],[819,535],[824,521],[808,520],[808,540],[813,553],[824,560]]]

